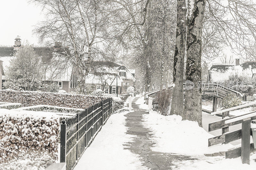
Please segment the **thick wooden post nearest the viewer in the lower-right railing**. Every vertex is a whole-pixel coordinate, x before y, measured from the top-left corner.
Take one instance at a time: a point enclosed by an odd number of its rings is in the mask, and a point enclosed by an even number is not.
[[[242,120],[241,159],[243,164],[250,164],[251,118]]]

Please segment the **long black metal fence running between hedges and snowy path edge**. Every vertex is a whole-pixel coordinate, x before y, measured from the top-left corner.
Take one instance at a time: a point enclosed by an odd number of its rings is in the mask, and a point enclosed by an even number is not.
[[[60,125],[60,162],[72,170],[85,149],[112,114],[112,98],[76,114],[72,119],[62,120]]]

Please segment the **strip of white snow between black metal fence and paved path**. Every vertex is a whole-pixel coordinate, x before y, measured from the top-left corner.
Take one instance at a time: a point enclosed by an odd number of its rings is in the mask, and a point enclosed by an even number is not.
[[[132,141],[133,137],[133,135],[125,134],[127,127],[125,127],[126,117],[124,115],[127,113],[129,112],[126,111],[109,117],[92,144],[85,150],[74,170],[147,169],[142,166],[138,155],[124,149],[123,144]]]

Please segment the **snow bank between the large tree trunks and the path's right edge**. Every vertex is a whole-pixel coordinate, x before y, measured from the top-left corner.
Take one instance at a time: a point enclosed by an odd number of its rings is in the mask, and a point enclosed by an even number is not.
[[[153,151],[179,153],[184,155],[203,155],[227,151],[231,144],[208,147],[208,138],[214,137],[198,126],[197,122],[181,121],[179,115],[160,115],[155,111],[143,115],[144,126],[153,131],[156,142]]]

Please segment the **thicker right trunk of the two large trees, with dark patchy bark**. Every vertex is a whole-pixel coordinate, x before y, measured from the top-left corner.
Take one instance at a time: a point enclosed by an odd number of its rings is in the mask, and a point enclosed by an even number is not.
[[[187,66],[186,66],[186,83],[194,83],[193,86],[186,86],[185,107],[183,119],[197,121],[202,127],[202,89],[201,78],[201,57],[202,57],[202,25],[204,17],[205,0],[194,1],[194,6],[188,8],[187,17]],[[190,11],[191,10],[191,11]],[[192,83],[192,84],[193,84]]]

